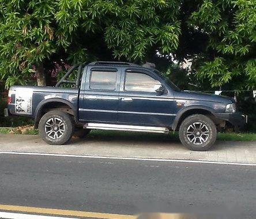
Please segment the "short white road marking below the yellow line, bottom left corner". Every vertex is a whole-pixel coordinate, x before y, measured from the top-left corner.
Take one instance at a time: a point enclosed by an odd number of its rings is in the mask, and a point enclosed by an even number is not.
[[[0,212],[0,218],[8,218],[8,219],[78,219],[78,218],[71,218],[71,217],[55,217],[55,216],[20,214],[20,213],[10,213],[10,212]]]

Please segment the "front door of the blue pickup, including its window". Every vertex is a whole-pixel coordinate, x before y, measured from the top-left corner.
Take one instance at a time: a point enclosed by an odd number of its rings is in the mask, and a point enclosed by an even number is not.
[[[174,96],[170,90],[157,96],[156,89],[164,85],[149,71],[127,69],[120,86],[119,123],[145,126],[171,126],[174,120]]]

